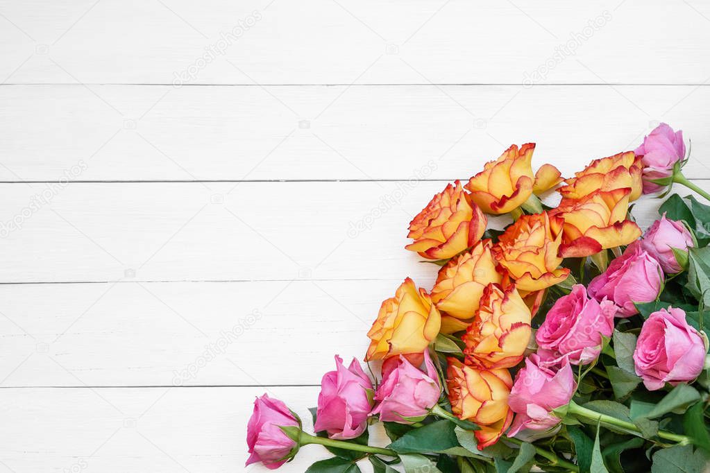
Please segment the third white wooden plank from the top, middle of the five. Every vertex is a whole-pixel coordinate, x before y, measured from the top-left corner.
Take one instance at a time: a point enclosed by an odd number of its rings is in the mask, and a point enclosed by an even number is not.
[[[0,282],[411,276],[426,285],[430,265],[403,246],[410,219],[444,185],[1,184]],[[642,225],[659,204],[638,202]]]

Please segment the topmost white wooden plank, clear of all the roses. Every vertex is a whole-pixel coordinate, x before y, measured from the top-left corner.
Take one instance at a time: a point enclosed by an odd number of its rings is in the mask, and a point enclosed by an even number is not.
[[[0,11],[9,83],[171,84],[185,71],[197,84],[710,77],[710,9],[697,0],[4,0]]]

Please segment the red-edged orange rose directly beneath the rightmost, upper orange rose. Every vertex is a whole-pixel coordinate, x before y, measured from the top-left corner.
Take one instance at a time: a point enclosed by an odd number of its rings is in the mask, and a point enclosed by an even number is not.
[[[626,220],[631,189],[596,191],[583,199],[562,199],[550,211],[552,231],[562,232],[559,256],[585,257],[601,250],[629,243],[640,237],[641,230]],[[562,222],[562,224],[560,224]]]

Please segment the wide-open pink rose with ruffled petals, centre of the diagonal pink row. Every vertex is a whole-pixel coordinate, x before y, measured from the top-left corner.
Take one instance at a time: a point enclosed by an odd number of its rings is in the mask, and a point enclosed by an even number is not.
[[[544,361],[568,357],[572,365],[586,365],[599,357],[601,335],[611,335],[618,308],[612,301],[589,299],[581,284],[555,301],[537,329],[537,354]]]

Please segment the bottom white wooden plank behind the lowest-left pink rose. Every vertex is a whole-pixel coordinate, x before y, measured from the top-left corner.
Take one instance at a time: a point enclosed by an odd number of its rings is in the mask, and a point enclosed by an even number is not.
[[[315,387],[2,389],[0,469],[7,472],[267,472],[244,468],[255,396],[282,399],[312,429]],[[387,445],[379,428],[371,442]],[[303,447],[280,472],[329,455]],[[369,462],[361,462],[371,472]]]

